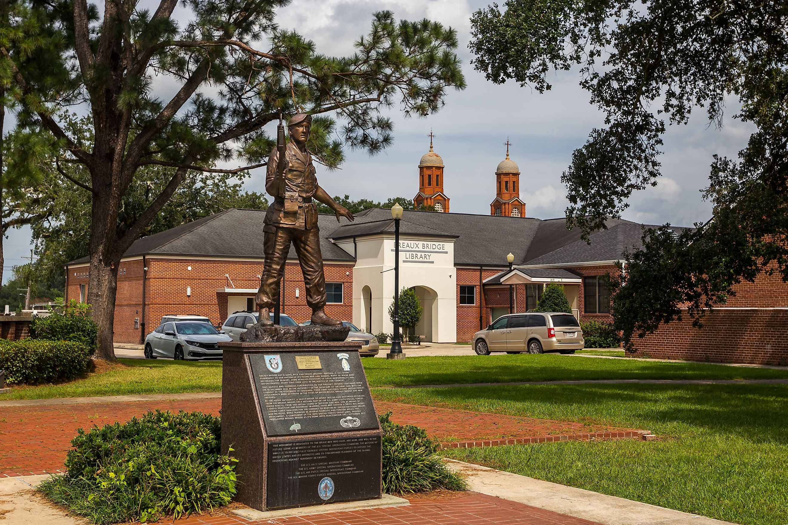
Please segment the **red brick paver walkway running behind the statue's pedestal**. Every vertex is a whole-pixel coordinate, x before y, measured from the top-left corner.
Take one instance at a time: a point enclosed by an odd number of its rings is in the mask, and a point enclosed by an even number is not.
[[[59,472],[80,427],[127,421],[147,410],[218,414],[221,398],[157,400],[87,405],[0,407],[0,477]],[[501,416],[377,401],[378,413],[393,412],[396,423],[423,427],[444,447],[495,446],[570,439],[637,438],[642,431],[566,421]]]

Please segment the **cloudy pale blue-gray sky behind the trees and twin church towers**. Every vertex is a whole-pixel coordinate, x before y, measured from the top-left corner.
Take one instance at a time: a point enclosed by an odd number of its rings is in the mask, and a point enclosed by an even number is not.
[[[396,18],[424,17],[455,28],[459,56],[467,87],[451,91],[446,105],[428,118],[406,119],[391,109],[395,122],[392,146],[370,157],[350,151],[343,168],[318,179],[329,194],[351,198],[385,200],[411,198],[418,191],[418,160],[429,150],[428,134],[435,133],[435,151],[444,159],[444,190],[454,213],[489,213],[495,197],[495,168],[505,157],[504,142],[511,141],[511,159],[520,168],[520,197],[526,215],[542,219],[563,216],[567,205],[561,173],[571,153],[582,146],[589,131],[601,126],[602,116],[589,105],[587,92],[578,87],[576,72],[552,76],[553,89],[538,94],[516,83],[500,86],[485,81],[470,65],[468,41],[470,14],[488,5],[484,0],[295,0],[284,8],[277,22],[313,39],[324,54],[352,52],[355,39],[370,28],[371,14],[381,9]],[[163,91],[169,91],[164,87]],[[647,224],[689,226],[707,219],[710,206],[700,190],[708,182],[712,154],[735,157],[749,136],[745,124],[733,120],[735,101],[730,101],[722,129],[708,125],[698,111],[686,126],[671,128],[665,137],[663,177],[659,186],[635,195],[624,218]],[[262,170],[247,180],[250,190],[263,189]],[[6,270],[22,264],[29,255],[28,230],[9,233]],[[4,272],[7,280],[10,272]]]

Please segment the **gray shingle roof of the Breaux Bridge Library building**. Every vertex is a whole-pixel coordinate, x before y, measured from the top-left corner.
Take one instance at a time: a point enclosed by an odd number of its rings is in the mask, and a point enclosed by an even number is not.
[[[124,257],[177,255],[203,257],[263,257],[262,224],[266,212],[228,209],[188,224],[138,239]],[[362,237],[394,231],[389,209],[369,209],[337,224],[333,215],[319,215],[321,249],[326,261],[355,261],[331,239]],[[642,225],[628,220],[608,221],[608,230],[597,231],[591,244],[580,238],[578,229],[567,230],[564,219],[501,217],[467,213],[417,212],[406,210],[400,223],[403,235],[453,237],[455,264],[501,268],[506,256],[515,255],[515,265],[577,264],[617,261],[626,249],[641,246]],[[682,228],[675,227],[675,231]],[[296,258],[290,250],[289,258]],[[87,262],[83,257],[68,264]]]

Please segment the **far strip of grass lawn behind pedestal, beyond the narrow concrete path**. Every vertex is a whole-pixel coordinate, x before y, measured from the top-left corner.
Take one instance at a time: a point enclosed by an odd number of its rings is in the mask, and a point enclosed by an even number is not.
[[[0,401],[221,390],[221,361],[121,359],[128,368],[50,386],[15,387]],[[585,359],[556,354],[362,360],[370,386],[514,383],[566,379],[771,379],[788,371],[701,363]]]

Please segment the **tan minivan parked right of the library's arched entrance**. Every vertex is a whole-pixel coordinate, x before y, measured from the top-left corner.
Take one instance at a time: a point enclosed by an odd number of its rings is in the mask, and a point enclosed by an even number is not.
[[[486,330],[476,332],[473,341],[480,356],[491,352],[574,353],[585,346],[578,320],[563,312],[500,316]]]

